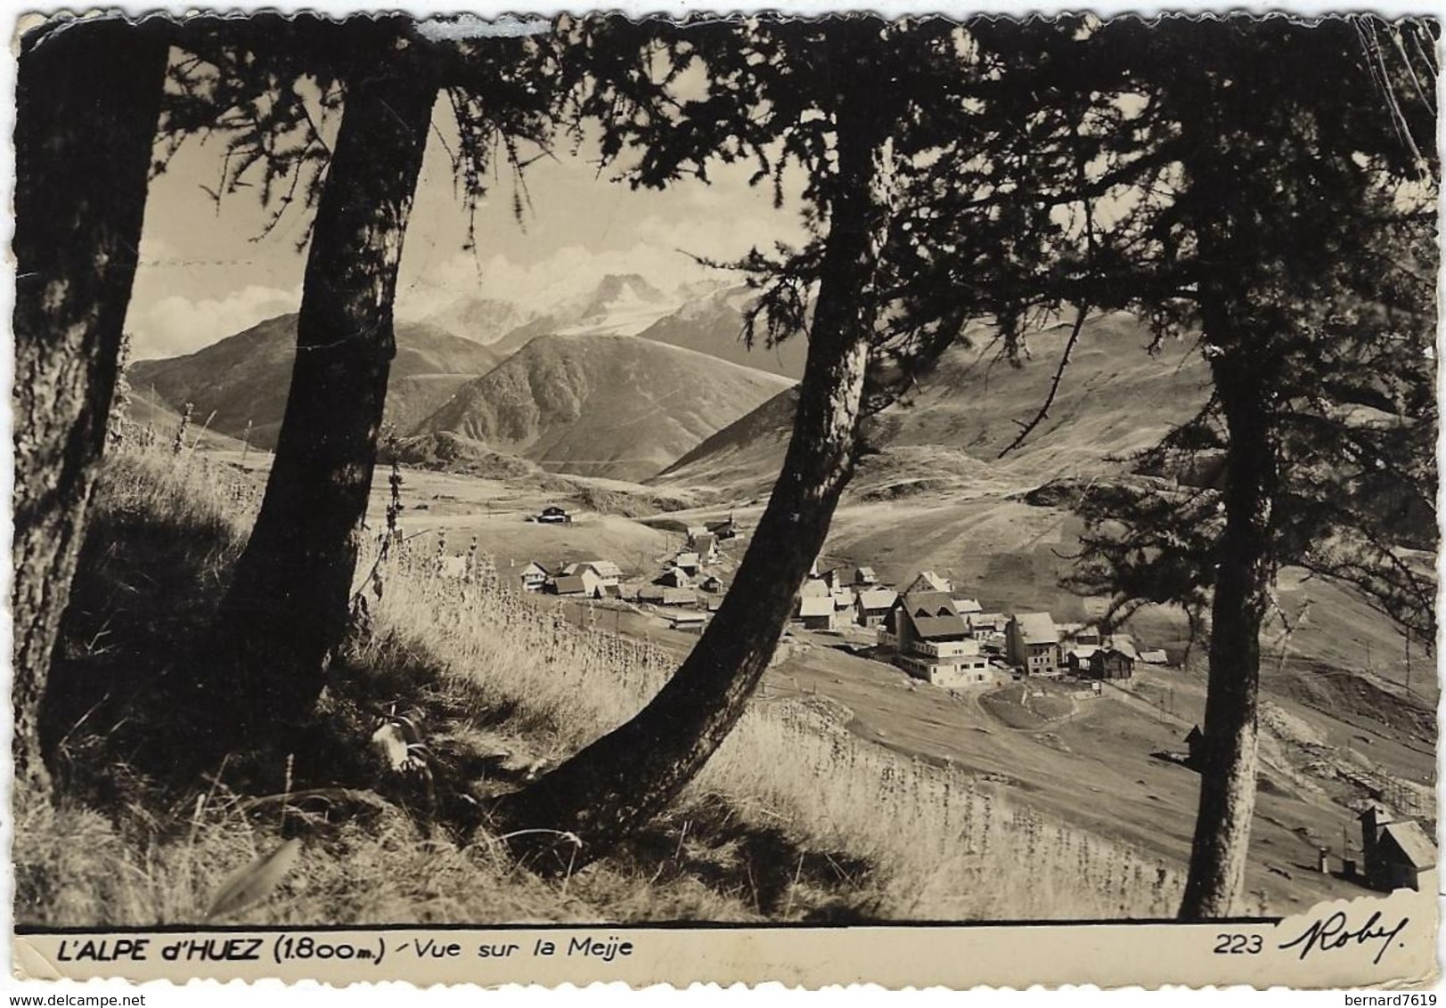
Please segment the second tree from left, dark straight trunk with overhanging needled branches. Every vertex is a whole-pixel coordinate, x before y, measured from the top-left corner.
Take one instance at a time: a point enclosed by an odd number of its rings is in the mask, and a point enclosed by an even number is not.
[[[445,90],[471,210],[495,143],[521,171],[518,142],[545,139],[551,100],[539,84],[548,52],[528,39],[434,43],[411,17],[298,19],[272,23],[275,33],[266,22],[217,22],[192,43],[171,120],[178,142],[227,134],[223,194],[259,174],[273,224],[295,202],[315,210],[275,461],[217,615],[214,654],[234,675],[197,683],[218,722],[240,730],[304,717],[347,631],[396,351],[396,272],[434,104]],[[334,145],[312,106],[343,110]]]

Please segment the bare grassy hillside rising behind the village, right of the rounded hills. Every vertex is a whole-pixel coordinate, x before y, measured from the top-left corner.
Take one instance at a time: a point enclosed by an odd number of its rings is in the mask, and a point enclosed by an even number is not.
[[[986,607],[1043,609],[1060,620],[1098,616],[1098,600],[1060,584],[1073,570],[1082,531],[1069,508],[1070,487],[1128,477],[1137,464],[1131,456],[1203,406],[1209,376],[1189,341],[1168,341],[1151,354],[1141,320],[1092,318],[1048,417],[999,458],[1044,403],[1069,330],[1056,324],[1032,334],[1018,366],[996,359],[983,328],[972,333],[972,347],[946,354],[868,430],[868,453],[836,512],[826,552],[872,564],[897,583],[923,568],[946,573]],[[775,396],[652,483],[690,487],[714,511],[732,505],[756,518],[782,464],[795,408],[791,390]],[[1343,693],[1327,680],[1349,678],[1391,697],[1372,710],[1394,703],[1397,725],[1429,716],[1437,697],[1432,659],[1410,655],[1390,619],[1358,594],[1306,580],[1301,571],[1283,571],[1280,597],[1287,615],[1306,612],[1307,619],[1288,641],[1278,620],[1270,628],[1268,684],[1329,707],[1335,701],[1326,697]],[[1132,629],[1176,657],[1189,646],[1189,625],[1177,610],[1145,610]]]

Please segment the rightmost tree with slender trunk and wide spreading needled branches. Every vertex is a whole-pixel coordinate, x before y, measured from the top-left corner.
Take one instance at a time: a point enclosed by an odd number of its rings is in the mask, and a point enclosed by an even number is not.
[[[959,243],[1001,204],[1021,224],[986,272],[1006,353],[1031,311],[1126,308],[1154,346],[1194,334],[1212,369],[1209,408],[1161,451],[1213,453],[1222,489],[1096,487],[1076,578],[1116,593],[1115,619],[1141,600],[1184,605],[1196,625],[1213,612],[1187,918],[1239,911],[1277,567],[1345,580],[1434,635],[1430,574],[1397,550],[1434,526],[1434,107],[1432,88],[1408,84],[1434,80],[1427,27],[1092,25],[1035,61],[1022,187],[980,200],[951,185],[947,159],[927,178],[937,192],[915,228],[944,255],[914,273],[914,304],[969,304],[980,256]],[[1403,508],[1413,528],[1392,529],[1385,515]]]

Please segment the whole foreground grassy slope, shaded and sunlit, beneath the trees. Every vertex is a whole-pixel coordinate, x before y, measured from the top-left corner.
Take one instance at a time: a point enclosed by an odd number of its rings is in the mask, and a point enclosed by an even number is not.
[[[108,461],[84,605],[67,623],[72,675],[136,664],[147,649],[165,657],[140,665],[185,661],[168,642],[204,625],[218,597],[257,500],[246,480],[200,457]],[[159,558],[146,552],[163,544]],[[67,801],[17,797],[17,920],[200,920],[228,878],[285,836],[305,840],[296,868],[228,920],[1168,917],[1177,904],[1181,881],[1161,865],[1044,821],[993,784],[865,743],[817,699],[755,703],[675,808],[576,876],[539,881],[505,843],[453,829],[469,806],[461,795],[484,801],[622,723],[672,659],[513,594],[484,557],[463,578],[442,577],[427,539],[377,573],[370,628],[333,665],[299,748],[162,759],[174,726],[163,704],[146,703],[155,693],[143,677],[129,704],[68,713],[56,729]],[[100,644],[81,646],[98,628]],[[379,710],[416,725],[429,787],[369,752]]]

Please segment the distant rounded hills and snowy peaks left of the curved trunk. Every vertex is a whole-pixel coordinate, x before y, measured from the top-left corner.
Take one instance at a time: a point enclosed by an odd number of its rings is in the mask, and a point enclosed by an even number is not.
[[[622,273],[545,311],[458,298],[396,324],[385,422],[402,435],[451,431],[552,471],[654,476],[803,373],[803,338],[743,346],[749,296],[709,281],[667,294]],[[136,362],[129,377],[156,405],[189,402],[197,424],[272,448],[295,338],[296,315],[279,315],[182,357]]]

